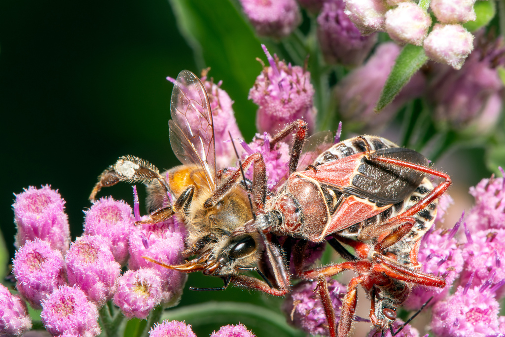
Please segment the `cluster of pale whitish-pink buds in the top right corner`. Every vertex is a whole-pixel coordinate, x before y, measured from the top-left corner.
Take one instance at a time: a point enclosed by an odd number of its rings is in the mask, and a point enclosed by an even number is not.
[[[428,34],[431,17],[411,1],[346,0],[345,13],[364,34],[386,31],[398,43],[422,45],[437,62],[460,69],[473,50],[473,35],[461,23],[475,20],[475,0],[433,0],[438,23]]]

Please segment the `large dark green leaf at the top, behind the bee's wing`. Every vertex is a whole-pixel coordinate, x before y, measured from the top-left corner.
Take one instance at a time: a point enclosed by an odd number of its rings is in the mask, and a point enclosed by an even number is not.
[[[255,128],[250,121],[256,105],[247,93],[261,72],[261,42],[229,0],[170,0],[182,35],[193,47],[197,66],[211,67],[209,76],[222,80],[222,88],[235,101],[235,117],[244,137]],[[182,69],[181,69],[182,70]],[[199,73],[201,69],[194,69]]]

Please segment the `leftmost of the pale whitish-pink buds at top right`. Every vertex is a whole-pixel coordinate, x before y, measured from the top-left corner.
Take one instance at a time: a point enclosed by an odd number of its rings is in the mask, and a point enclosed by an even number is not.
[[[364,35],[384,30],[387,9],[383,0],[345,1],[345,14]]]

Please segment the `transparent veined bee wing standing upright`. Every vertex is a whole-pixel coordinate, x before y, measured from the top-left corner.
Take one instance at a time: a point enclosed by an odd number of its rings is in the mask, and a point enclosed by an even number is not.
[[[181,71],[172,82],[170,145],[182,164],[195,164],[203,168],[209,186],[214,188],[214,125],[204,84],[188,70]]]

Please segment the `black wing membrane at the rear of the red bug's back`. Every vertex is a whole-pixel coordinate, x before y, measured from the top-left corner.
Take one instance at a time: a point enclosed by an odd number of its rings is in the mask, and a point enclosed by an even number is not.
[[[370,159],[363,157],[358,174],[352,179],[352,186],[343,192],[362,199],[368,199],[379,206],[396,204],[409,197],[419,186],[425,173],[403,167],[374,161],[373,157],[385,157],[427,166],[428,160],[419,152],[405,148],[382,149],[374,152]]]

